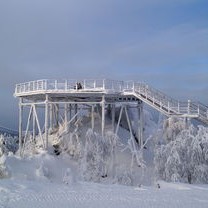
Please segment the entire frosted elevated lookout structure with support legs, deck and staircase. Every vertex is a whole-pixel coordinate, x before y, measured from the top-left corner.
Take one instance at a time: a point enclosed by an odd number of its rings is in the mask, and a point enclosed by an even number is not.
[[[38,129],[44,148],[48,146],[49,128],[59,125],[59,113],[62,109],[62,123],[65,128],[76,121],[79,108],[82,105],[91,109],[91,124],[94,128],[93,112],[95,107],[101,107],[101,134],[105,132],[105,111],[111,109],[112,129],[117,134],[122,113],[125,112],[130,134],[131,121],[127,106],[137,103],[139,112],[138,132],[139,144],[143,143],[143,103],[151,106],[166,116],[195,118],[208,124],[208,107],[191,101],[180,102],[144,83],[115,80],[36,80],[17,84],[15,97],[19,98],[19,141],[20,148],[27,138],[30,123],[32,135],[35,139]],[[115,128],[115,105],[121,103],[119,118]],[[29,106],[29,114],[25,135],[23,135],[23,109]],[[37,108],[44,109],[44,126],[41,126]],[[73,111],[73,113],[72,113]],[[69,115],[70,114],[70,115]],[[44,129],[44,130],[43,130]]]

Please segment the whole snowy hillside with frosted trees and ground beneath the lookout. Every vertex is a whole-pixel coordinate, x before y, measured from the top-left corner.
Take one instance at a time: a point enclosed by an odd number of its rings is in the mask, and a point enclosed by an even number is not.
[[[107,117],[102,137],[87,114],[51,131],[48,152],[28,141],[19,157],[17,140],[1,136],[0,207],[207,207],[208,185],[190,185],[187,175],[207,183],[207,128],[149,109],[144,118],[142,151],[124,122],[117,137]]]

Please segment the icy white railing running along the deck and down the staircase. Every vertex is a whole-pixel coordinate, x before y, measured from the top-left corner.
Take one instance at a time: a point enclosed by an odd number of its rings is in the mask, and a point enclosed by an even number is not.
[[[72,92],[72,91],[105,91],[109,93],[134,93],[142,100],[160,109],[166,114],[198,115],[208,122],[208,107],[201,103],[180,102],[151,86],[134,81],[116,81],[108,79],[87,80],[51,80],[43,79],[17,84],[15,96],[33,92]]]

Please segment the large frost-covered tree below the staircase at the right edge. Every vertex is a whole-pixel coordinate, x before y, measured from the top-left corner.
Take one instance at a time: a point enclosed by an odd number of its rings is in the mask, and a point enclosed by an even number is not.
[[[208,128],[182,130],[155,152],[157,176],[168,181],[208,183]]]

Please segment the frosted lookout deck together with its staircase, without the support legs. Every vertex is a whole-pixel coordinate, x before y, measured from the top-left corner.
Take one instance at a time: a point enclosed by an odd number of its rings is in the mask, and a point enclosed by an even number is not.
[[[166,116],[196,118],[208,124],[208,107],[199,102],[177,101],[147,84],[116,80],[36,80],[17,84],[14,95],[28,100],[44,100],[48,94],[57,99],[64,97],[89,99],[105,95],[114,99],[139,99]]]

